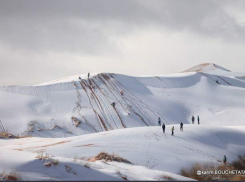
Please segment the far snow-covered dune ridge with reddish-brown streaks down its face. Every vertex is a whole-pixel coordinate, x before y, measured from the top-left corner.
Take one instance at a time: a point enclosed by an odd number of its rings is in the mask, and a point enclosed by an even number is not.
[[[174,75],[96,73],[90,79],[77,75],[0,87],[0,119],[12,134],[39,137],[156,126],[158,117],[166,124],[188,124],[192,115],[205,125],[244,125],[244,79],[217,65],[196,68]],[[220,71],[230,75],[217,75]]]

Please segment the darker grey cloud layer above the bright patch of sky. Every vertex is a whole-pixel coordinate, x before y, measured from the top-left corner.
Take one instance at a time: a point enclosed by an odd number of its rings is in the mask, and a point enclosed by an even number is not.
[[[15,48],[111,53],[122,36],[169,28],[244,42],[244,27],[223,9],[228,2],[196,0],[3,0],[0,42]]]

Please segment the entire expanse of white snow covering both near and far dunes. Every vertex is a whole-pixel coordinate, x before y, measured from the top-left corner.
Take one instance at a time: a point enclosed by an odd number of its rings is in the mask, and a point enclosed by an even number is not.
[[[191,124],[192,115],[200,125]],[[189,180],[179,175],[182,168],[245,154],[244,118],[245,73],[212,63],[173,75],[93,73],[3,86],[0,130],[32,137],[0,139],[0,173],[17,171],[29,180]],[[44,166],[36,158],[42,150],[59,164]],[[100,152],[132,164],[87,161]]]

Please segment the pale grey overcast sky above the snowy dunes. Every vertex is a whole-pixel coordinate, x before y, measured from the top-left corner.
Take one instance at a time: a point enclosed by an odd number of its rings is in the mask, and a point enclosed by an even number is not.
[[[207,62],[245,72],[244,0],[0,1],[0,85]]]

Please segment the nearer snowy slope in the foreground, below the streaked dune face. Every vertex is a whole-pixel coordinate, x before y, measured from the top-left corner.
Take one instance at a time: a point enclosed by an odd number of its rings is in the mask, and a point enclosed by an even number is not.
[[[59,139],[0,140],[0,170],[16,170],[36,180],[120,180],[120,175],[129,180],[170,180],[167,177],[187,180],[178,174],[182,168],[193,163],[220,163],[223,155],[230,163],[238,155],[245,154],[244,126],[189,124],[184,125],[183,132],[179,131],[179,125],[174,126],[174,136],[171,136],[171,126],[167,126],[166,134],[162,133],[161,127],[155,126]],[[35,158],[40,150],[58,159],[59,164],[48,169],[44,167],[45,161]],[[86,161],[102,151],[118,154],[133,164]],[[90,168],[86,168],[85,164]],[[65,171],[65,165],[77,175]]]

